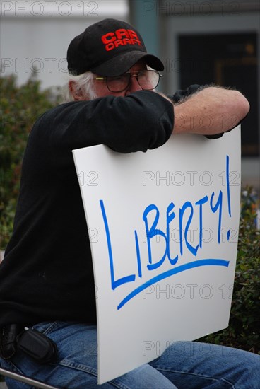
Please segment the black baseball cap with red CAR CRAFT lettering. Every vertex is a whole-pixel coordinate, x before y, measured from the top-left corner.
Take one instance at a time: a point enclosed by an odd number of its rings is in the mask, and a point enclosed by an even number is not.
[[[78,76],[93,71],[100,76],[119,76],[144,59],[151,68],[162,71],[158,57],[148,54],[143,39],[129,23],[104,19],[90,25],[70,43],[68,70]]]

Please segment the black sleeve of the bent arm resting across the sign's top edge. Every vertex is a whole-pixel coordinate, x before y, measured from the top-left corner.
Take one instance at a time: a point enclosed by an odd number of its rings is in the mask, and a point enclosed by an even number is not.
[[[155,149],[170,138],[172,104],[153,91],[65,103],[35,123],[28,145],[37,144],[56,170],[73,165],[73,149],[105,144],[131,153]],[[45,149],[45,150],[43,150]]]

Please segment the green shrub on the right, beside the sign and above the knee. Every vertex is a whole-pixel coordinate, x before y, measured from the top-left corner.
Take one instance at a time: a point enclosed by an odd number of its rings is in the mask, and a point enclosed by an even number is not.
[[[230,323],[199,340],[260,354],[260,245],[252,188],[242,191],[241,206]]]

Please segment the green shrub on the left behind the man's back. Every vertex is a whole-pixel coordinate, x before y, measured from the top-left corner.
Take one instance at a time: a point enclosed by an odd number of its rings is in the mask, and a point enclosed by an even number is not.
[[[13,229],[20,185],[20,169],[32,124],[59,101],[50,89],[40,90],[32,74],[23,86],[16,76],[0,76],[0,248],[4,250]]]

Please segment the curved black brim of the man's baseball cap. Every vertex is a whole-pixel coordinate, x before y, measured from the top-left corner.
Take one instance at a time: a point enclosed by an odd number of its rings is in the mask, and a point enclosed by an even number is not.
[[[155,57],[155,55],[133,50],[131,52],[120,53],[116,57],[113,57],[107,62],[103,62],[90,70],[100,76],[119,76],[134,66],[139,59],[144,59],[146,64],[155,70],[162,71],[165,68],[160,59]]]

